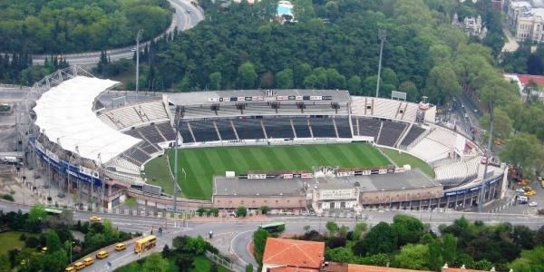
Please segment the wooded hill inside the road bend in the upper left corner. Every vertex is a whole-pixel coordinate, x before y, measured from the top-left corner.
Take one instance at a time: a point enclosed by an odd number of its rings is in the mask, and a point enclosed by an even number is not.
[[[2,0],[0,52],[73,53],[134,44],[170,24],[168,0]]]

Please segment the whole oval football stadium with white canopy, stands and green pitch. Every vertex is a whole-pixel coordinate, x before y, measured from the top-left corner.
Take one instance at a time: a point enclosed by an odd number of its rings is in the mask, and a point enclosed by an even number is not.
[[[34,84],[19,130],[26,163],[95,209],[133,197],[172,210],[174,186],[177,211],[468,209],[507,186],[504,165],[484,179],[478,144],[402,93],[110,91],[118,84],[53,73]]]

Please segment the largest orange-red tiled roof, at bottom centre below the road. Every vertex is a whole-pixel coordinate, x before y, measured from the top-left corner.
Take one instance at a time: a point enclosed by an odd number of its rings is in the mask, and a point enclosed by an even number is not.
[[[325,259],[324,253],[324,242],[267,238],[263,264],[319,269]]]

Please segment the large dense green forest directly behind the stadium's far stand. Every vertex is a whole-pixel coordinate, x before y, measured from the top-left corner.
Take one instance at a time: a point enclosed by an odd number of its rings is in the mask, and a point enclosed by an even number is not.
[[[467,69],[492,69],[494,64],[496,50],[451,24],[454,12],[474,15],[490,1],[479,7],[453,0],[303,0],[296,2],[295,24],[273,20],[275,3],[224,8],[200,1],[206,20],[171,42],[151,46],[144,58],[151,64],[146,64],[141,85],[156,81],[165,89],[183,91],[328,88],[371,94],[377,78],[378,29],[387,32],[381,88],[385,97],[398,89],[408,92],[410,101],[426,95],[442,103],[462,88],[472,88]],[[495,22],[496,13],[490,11],[486,21]],[[491,41],[483,43],[500,48],[501,33],[499,38],[490,33]],[[499,73],[491,74],[490,83],[500,79]]]

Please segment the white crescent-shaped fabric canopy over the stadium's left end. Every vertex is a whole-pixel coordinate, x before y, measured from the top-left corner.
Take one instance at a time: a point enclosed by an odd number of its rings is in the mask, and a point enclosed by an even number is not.
[[[85,76],[64,81],[36,102],[36,124],[63,150],[98,163],[112,160],[141,141],[112,129],[92,112],[95,98],[117,83]]]

